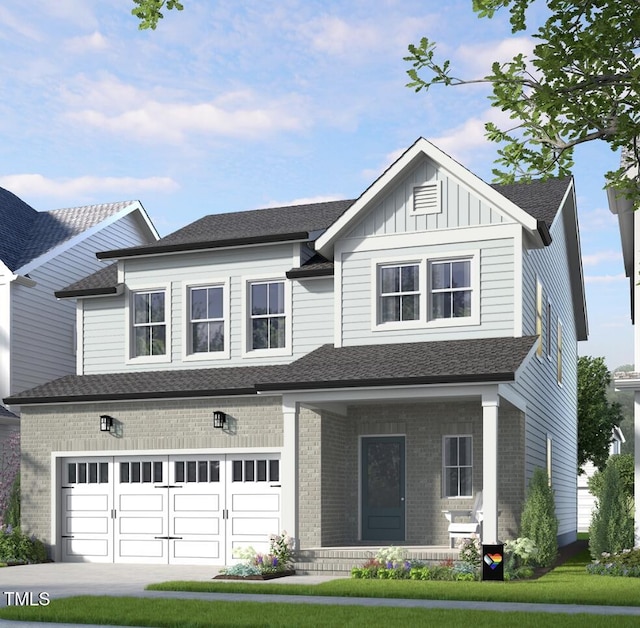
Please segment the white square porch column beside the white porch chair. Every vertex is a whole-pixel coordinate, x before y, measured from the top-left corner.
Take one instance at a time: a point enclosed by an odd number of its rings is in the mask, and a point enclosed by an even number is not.
[[[482,542],[498,542],[498,392],[482,395]]]

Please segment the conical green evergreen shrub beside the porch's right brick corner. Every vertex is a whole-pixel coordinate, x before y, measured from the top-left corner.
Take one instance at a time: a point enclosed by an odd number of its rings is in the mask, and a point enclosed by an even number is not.
[[[558,519],[553,490],[544,469],[537,468],[529,482],[520,535],[531,539],[538,548],[536,564],[549,567],[553,563],[558,555]]]

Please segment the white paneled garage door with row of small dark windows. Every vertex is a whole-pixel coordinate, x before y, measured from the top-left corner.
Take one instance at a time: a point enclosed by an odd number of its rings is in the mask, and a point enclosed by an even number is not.
[[[68,458],[62,560],[223,565],[280,530],[277,454]]]

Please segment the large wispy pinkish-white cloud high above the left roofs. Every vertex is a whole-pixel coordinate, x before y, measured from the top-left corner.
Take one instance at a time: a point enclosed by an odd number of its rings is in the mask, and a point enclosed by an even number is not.
[[[110,77],[98,83],[83,81],[79,91],[66,94],[69,104],[77,107],[67,115],[111,133],[171,143],[189,134],[256,139],[309,124],[306,103],[296,94],[270,98],[236,90],[200,103],[163,97]]]

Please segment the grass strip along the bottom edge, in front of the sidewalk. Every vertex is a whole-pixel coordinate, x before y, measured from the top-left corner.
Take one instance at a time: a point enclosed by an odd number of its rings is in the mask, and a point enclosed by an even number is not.
[[[423,610],[324,606],[319,604],[270,604],[260,602],[202,602],[148,598],[73,597],[54,600],[46,607],[10,607],[0,610],[3,619],[121,626],[191,628],[200,626],[567,626],[616,628],[637,626],[637,617],[511,613],[499,611]]]

